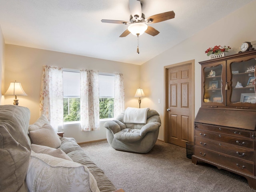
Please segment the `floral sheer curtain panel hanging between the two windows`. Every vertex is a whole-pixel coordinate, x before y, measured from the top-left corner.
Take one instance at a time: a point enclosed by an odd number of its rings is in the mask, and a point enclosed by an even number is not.
[[[80,70],[80,118],[81,130],[100,129],[99,73],[93,70]]]

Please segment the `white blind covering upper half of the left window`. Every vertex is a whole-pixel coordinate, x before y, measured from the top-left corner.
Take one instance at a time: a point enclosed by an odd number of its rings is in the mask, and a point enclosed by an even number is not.
[[[63,97],[80,98],[80,71],[63,70]]]

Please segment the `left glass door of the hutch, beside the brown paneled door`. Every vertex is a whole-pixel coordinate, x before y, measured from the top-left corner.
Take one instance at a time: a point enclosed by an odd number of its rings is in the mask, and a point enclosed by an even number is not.
[[[226,97],[223,83],[226,83],[226,62],[204,65],[202,72],[202,105],[224,106]]]

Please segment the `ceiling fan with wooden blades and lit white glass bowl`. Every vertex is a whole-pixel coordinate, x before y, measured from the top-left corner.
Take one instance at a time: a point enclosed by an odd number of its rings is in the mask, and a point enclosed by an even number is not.
[[[148,26],[148,24],[162,22],[175,17],[175,13],[173,11],[168,11],[146,18],[142,13],[142,3],[139,0],[129,0],[129,7],[131,12],[130,21],[102,19],[101,22],[129,25],[128,29],[119,37],[126,37],[130,33],[139,37],[139,35],[142,35],[144,32],[152,36],[156,36],[159,34],[159,31]],[[137,52],[139,53],[138,48]]]

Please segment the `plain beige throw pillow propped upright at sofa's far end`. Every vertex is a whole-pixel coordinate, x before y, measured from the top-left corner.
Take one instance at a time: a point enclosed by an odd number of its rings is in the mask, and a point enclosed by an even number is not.
[[[61,145],[60,138],[50,124],[44,124],[40,129],[29,132],[31,143],[58,148]]]

